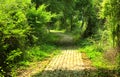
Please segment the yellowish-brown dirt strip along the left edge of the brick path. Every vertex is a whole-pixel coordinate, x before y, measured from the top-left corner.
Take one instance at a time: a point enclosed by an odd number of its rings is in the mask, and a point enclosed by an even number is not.
[[[17,70],[17,77],[31,77],[36,73],[42,72],[46,66],[49,64],[53,57],[49,57],[44,59],[43,61],[34,62],[30,64],[26,69],[18,69]]]

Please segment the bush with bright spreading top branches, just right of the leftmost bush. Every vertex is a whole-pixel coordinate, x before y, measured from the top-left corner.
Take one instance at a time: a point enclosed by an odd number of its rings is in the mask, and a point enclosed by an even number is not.
[[[48,38],[48,28],[47,24],[51,21],[51,18],[54,17],[55,14],[51,14],[51,12],[46,11],[46,6],[41,5],[38,9],[34,6],[27,12],[28,23],[32,28],[32,32],[29,37],[32,38],[29,42],[33,44],[42,44],[43,41],[46,41]],[[49,26],[49,25],[48,25]],[[36,38],[36,40],[34,39]]]

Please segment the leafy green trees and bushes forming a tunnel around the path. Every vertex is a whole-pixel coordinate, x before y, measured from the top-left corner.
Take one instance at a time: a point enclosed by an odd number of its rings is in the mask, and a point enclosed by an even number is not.
[[[111,49],[119,74],[120,0],[0,0],[0,76],[15,76],[26,62],[56,50],[50,30],[73,34],[80,47]]]

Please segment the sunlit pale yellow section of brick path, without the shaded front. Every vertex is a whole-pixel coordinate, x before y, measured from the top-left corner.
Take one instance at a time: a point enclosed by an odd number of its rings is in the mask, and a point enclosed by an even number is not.
[[[82,65],[81,53],[76,50],[63,50],[60,55],[53,58],[45,70],[79,70],[82,69]]]

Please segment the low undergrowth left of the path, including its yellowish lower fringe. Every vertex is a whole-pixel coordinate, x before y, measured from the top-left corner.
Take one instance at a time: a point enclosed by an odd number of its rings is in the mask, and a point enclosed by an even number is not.
[[[24,57],[24,60],[18,63],[16,66],[18,69],[18,72],[13,72],[15,73],[14,76],[16,76],[19,71],[21,70],[27,70],[30,67],[34,67],[33,64],[36,64],[37,62],[44,61],[54,55],[57,55],[60,53],[60,50],[56,48],[55,46],[51,46],[48,44],[42,45],[42,46],[35,46],[32,48],[29,48],[27,50],[27,53]],[[31,66],[32,65],[32,66]],[[13,70],[15,70],[14,68]]]

